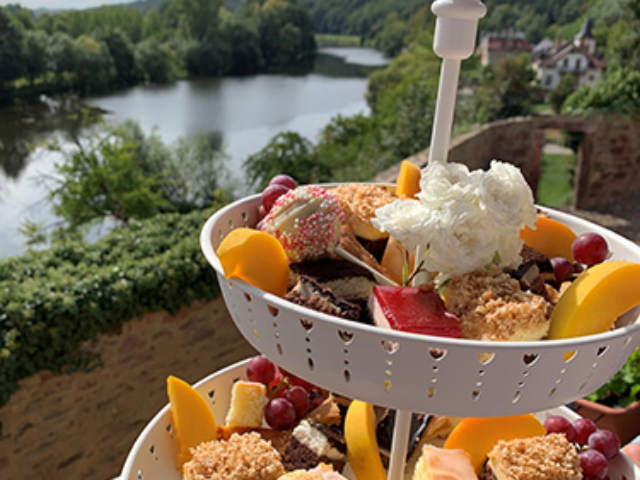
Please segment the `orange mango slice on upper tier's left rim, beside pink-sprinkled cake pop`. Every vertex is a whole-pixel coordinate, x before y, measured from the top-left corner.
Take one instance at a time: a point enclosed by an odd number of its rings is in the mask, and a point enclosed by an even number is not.
[[[226,278],[238,278],[265,292],[284,297],[289,260],[280,242],[268,233],[236,228],[222,240],[218,259]]]

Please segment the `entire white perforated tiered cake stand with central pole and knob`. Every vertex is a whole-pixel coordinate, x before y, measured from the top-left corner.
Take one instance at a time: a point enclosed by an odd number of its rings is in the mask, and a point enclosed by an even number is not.
[[[444,162],[460,62],[473,52],[477,22],[485,7],[479,0],[437,0],[432,10],[438,15],[434,50],[443,63],[430,161]],[[259,205],[259,195],[228,205],[201,232],[203,253],[216,270],[233,321],[251,345],[293,374],[347,397],[396,409],[392,480],[402,478],[410,412],[489,417],[558,411],[558,406],[604,384],[640,342],[637,311],[625,315],[619,328],[607,333],[515,343],[413,335],[300,307],[224,277],[215,252],[234,228],[256,225]],[[612,260],[640,263],[640,247],[634,243],[571,215],[550,209],[548,213],[577,234],[603,235]],[[242,374],[241,366],[230,367],[197,386],[205,398],[212,398],[216,418],[224,418],[231,383]],[[561,411],[567,414],[566,409]],[[136,442],[124,479],[179,479],[179,473],[166,470],[169,464],[175,467],[177,452],[170,426],[165,407]],[[618,457],[611,466],[612,480],[640,479],[626,457]]]

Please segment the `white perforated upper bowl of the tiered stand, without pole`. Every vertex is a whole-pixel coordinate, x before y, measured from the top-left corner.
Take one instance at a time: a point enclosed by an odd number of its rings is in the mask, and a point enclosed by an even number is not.
[[[257,223],[260,196],[215,213],[201,248],[237,328],[286,370],[339,394],[412,412],[503,416],[575,401],[604,384],[640,342],[638,312],[599,335],[536,342],[422,336],[349,322],[227,280],[216,256],[225,235]],[[640,263],[640,247],[598,225],[548,210],[576,233],[603,235],[612,259]]]

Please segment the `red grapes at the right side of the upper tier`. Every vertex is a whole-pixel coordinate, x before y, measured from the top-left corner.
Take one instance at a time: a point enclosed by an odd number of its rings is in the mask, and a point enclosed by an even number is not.
[[[591,267],[604,262],[609,257],[609,245],[604,237],[598,233],[588,232],[578,235],[571,244],[571,254],[576,263],[571,263],[563,257],[551,259],[556,281],[561,284],[573,275],[582,273],[583,265]]]

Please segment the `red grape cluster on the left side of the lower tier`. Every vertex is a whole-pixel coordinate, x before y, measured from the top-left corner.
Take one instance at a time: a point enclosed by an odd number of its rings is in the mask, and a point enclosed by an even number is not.
[[[267,386],[269,402],[264,418],[274,430],[293,428],[324,399],[318,387],[282,370],[263,355],[249,360],[247,378]]]

